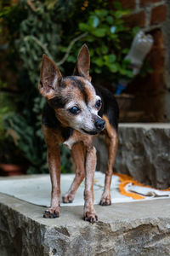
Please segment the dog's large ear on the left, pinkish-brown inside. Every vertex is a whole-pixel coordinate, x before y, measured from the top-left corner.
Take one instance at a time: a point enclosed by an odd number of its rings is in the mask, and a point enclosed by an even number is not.
[[[50,60],[47,55],[42,55],[42,69],[40,74],[39,90],[42,96],[50,99],[54,96],[54,90],[57,89],[59,79],[62,78],[59,67]]]

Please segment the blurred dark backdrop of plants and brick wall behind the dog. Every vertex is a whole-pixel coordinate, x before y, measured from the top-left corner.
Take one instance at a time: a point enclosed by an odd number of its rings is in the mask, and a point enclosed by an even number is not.
[[[1,0],[0,175],[12,166],[13,174],[48,172],[37,90],[43,53],[71,75],[88,44],[92,83],[116,94],[121,122],[169,122],[169,25],[162,0]],[[141,30],[153,44],[134,75],[126,56]],[[69,150],[60,150],[61,171],[72,172]]]

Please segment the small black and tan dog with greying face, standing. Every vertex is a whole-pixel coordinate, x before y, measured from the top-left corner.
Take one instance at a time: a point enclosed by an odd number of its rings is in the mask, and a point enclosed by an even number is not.
[[[85,177],[83,219],[91,223],[98,220],[94,210],[94,172],[96,150],[94,137],[105,134],[108,164],[105,189],[99,204],[111,205],[111,176],[116,158],[118,106],[109,90],[94,87],[89,75],[90,55],[83,44],[77,57],[73,75],[62,77],[59,68],[47,55],[42,55],[39,91],[46,99],[42,112],[42,133],[47,144],[47,162],[51,177],[51,207],[44,218],[59,217],[60,158],[59,143],[71,148],[76,164],[76,176],[64,203],[71,203]]]

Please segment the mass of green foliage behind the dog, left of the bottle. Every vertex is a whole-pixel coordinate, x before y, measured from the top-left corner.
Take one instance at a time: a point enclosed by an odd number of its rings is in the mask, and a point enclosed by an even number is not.
[[[133,32],[124,25],[122,16],[127,10],[114,3],[114,10],[102,0],[43,0],[8,5],[0,10],[4,30],[10,31],[7,46],[8,63],[18,74],[14,113],[4,116],[8,139],[30,163],[28,172],[47,172],[46,145],[41,132],[44,99],[39,95],[37,83],[42,60],[46,53],[57,62],[64,74],[73,70],[77,51],[88,44],[93,78],[116,81],[131,78],[132,71],[124,61]],[[9,20],[13,16],[14,24]],[[0,58],[4,58],[0,56]],[[59,61],[60,60],[60,61]],[[16,65],[17,64],[17,65]],[[62,172],[71,172],[71,155],[60,146]]]

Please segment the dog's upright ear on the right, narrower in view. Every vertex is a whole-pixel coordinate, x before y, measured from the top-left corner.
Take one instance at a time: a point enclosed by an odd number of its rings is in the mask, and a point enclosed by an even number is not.
[[[73,75],[81,76],[88,81],[91,81],[91,77],[89,75],[90,69],[90,55],[88,51],[88,46],[86,44],[82,45],[82,49],[80,49],[78,57],[77,57],[77,65],[74,69]]]

